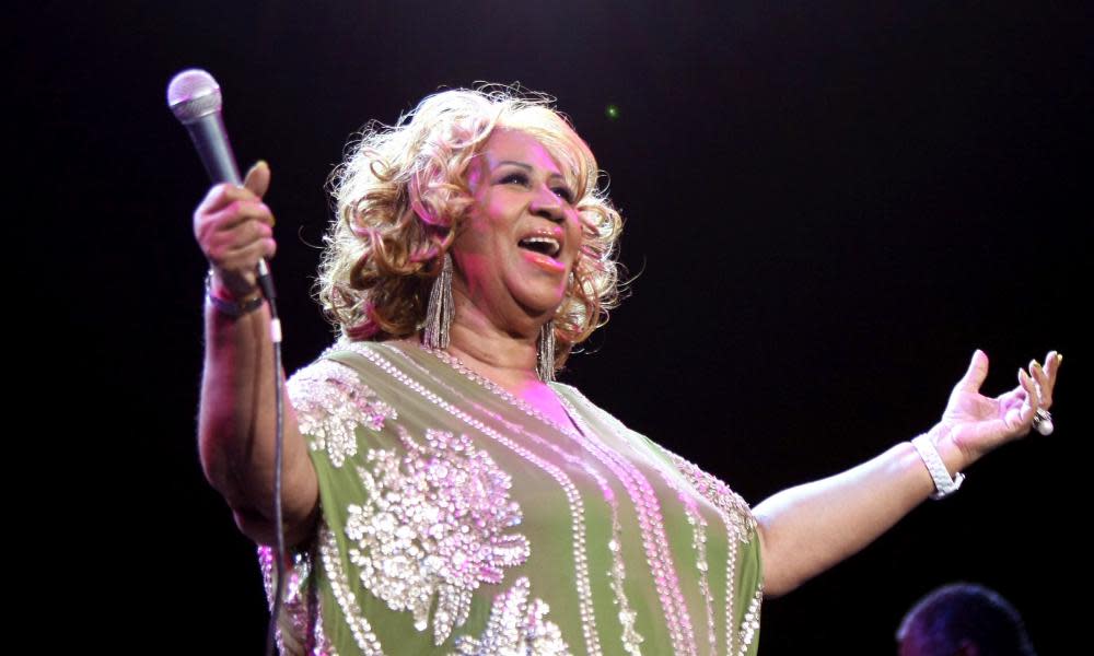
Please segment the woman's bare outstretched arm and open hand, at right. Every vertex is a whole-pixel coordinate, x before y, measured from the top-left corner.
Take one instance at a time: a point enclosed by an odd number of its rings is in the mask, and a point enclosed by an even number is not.
[[[977,351],[954,388],[942,422],[928,434],[951,476],[999,445],[1029,432],[1038,407],[1051,406],[1060,359],[1020,370],[1019,386],[994,399],[980,396],[987,356]],[[910,443],[858,467],[798,485],[756,506],[770,596],[794,589],[888,530],[934,492],[934,482]]]

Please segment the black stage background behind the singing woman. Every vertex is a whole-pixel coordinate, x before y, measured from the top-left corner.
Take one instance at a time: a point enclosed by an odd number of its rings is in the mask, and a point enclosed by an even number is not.
[[[31,116],[9,130],[31,175],[11,192],[33,232],[13,245],[13,289],[53,273],[19,302],[35,335],[16,360],[33,360],[38,417],[59,434],[19,442],[66,481],[56,500],[28,495],[59,529],[48,541],[81,554],[61,590],[105,595],[90,597],[95,630],[70,636],[117,635],[123,653],[264,642],[253,548],[194,441],[206,265],[190,212],[206,181],[163,98],[198,66],[222,85],[241,163],[274,171],[290,370],[330,340],[309,286],[347,138],[477,80],[557,96],[628,221],[632,297],[562,378],[753,503],[929,427],[975,348],[991,394],[1060,349],[1057,434],[993,454],[952,500],[770,600],[761,653],[894,653],[903,612],[954,579],[1000,590],[1043,653],[1067,653],[1089,630],[1087,602],[1064,596],[1083,599],[1090,574],[1090,7],[21,10],[9,104]]]

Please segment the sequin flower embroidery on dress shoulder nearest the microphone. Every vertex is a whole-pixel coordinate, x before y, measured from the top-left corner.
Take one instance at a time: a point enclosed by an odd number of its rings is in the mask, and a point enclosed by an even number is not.
[[[398,419],[353,370],[329,360],[301,370],[286,387],[300,432],[313,450],[327,452],[334,467],[357,455],[358,424],[379,431],[385,420]]]

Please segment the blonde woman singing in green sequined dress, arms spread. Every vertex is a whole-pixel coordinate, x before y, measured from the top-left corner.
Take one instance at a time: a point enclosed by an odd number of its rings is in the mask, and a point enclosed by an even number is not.
[[[286,385],[286,653],[755,654],[763,596],[1050,431],[1059,355],[987,398],[977,351],[913,442],[749,508],[554,382],[616,302],[621,220],[546,102],[439,93],[366,130],[333,180],[318,295],[341,338]],[[201,460],[259,544],[276,530],[254,273],[275,251],[268,184],[260,163],[194,218],[211,265]]]

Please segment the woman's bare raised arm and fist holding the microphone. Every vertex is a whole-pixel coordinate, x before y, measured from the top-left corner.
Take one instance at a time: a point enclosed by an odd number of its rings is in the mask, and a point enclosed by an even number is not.
[[[240,301],[257,293],[255,266],[276,248],[272,215],[261,202],[269,168],[258,164],[246,188],[214,187],[194,215],[195,234],[212,265],[212,293]],[[205,367],[198,447],[206,478],[249,538],[270,543],[274,522],[275,406],[269,309],[233,317],[206,302]],[[283,378],[283,375],[280,376]],[[282,506],[289,544],[311,534],[318,507],[315,469],[292,407],[284,407]]]

